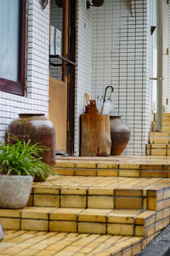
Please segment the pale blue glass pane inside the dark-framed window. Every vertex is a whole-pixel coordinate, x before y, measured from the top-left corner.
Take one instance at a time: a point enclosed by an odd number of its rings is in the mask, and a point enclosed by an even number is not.
[[[18,81],[20,0],[0,0],[0,78]]]

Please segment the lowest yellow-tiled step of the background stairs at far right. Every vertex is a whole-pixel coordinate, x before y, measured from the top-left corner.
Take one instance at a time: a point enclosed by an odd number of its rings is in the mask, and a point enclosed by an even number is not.
[[[147,144],[146,155],[170,156],[170,144]]]

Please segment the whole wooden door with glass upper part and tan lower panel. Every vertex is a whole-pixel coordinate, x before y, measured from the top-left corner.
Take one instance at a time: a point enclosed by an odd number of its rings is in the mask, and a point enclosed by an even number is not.
[[[67,74],[63,58],[68,55],[68,19],[69,1],[51,0],[50,61],[56,66],[50,65],[49,71],[49,119],[54,123],[58,153],[67,150]]]

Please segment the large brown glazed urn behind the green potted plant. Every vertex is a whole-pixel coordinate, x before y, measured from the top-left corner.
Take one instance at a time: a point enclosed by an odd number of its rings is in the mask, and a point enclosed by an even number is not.
[[[48,148],[42,153],[42,161],[48,166],[55,163],[55,131],[53,123],[43,113],[20,113],[8,126],[9,135],[31,143],[40,143]]]

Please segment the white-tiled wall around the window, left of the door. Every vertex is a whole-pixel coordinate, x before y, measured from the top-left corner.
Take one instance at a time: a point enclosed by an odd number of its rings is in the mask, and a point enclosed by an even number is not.
[[[18,113],[48,115],[48,27],[49,5],[41,8],[39,0],[27,0],[27,96],[0,91],[0,139]]]

